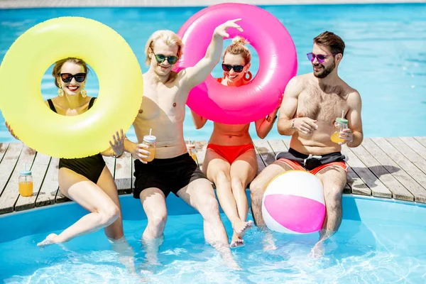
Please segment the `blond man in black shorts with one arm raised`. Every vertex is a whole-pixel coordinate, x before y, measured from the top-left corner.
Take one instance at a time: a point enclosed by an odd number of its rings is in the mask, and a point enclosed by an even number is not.
[[[223,38],[229,36],[226,30],[236,28],[242,31],[236,21],[239,19],[217,26],[204,58],[194,67],[180,72],[172,71],[182,56],[182,40],[178,35],[172,31],[156,31],[146,44],[149,70],[143,74],[143,102],[133,122],[138,143],[125,141],[125,149],[138,157],[133,197],[141,199],[148,217],[142,238],[151,261],[156,261],[158,246],[163,241],[168,217],[165,198],[170,192],[200,212],[206,241],[219,249],[222,256],[231,257],[226,249],[228,237],[212,185],[187,153],[183,121],[188,93],[203,82],[219,62]],[[141,142],[150,129],[157,138],[157,149],[154,160],[147,163],[150,153]]]

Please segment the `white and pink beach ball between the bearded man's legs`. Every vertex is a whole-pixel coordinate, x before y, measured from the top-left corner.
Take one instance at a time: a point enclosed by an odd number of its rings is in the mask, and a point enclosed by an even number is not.
[[[290,170],[273,179],[263,194],[266,226],[288,234],[320,231],[325,218],[322,182],[312,173]]]

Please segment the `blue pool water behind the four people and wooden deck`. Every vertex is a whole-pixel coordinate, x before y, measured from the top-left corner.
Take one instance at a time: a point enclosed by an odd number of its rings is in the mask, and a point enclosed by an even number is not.
[[[377,136],[426,136],[426,4],[263,6],[288,28],[297,48],[298,74],[311,72],[305,54],[312,38],[322,31],[334,31],[346,43],[339,75],[358,89],[363,99],[364,133]],[[94,18],[120,33],[141,64],[143,48],[153,31],[180,26],[201,8],[88,8],[0,10],[0,59],[19,35],[28,28],[58,16]],[[253,19],[255,21],[255,19]],[[64,31],[66,33],[66,31]],[[70,40],[78,35],[70,35]],[[82,43],[84,44],[84,43]],[[52,46],[55,48],[55,46]],[[28,62],[31,64],[31,62]],[[258,67],[253,56],[252,70]],[[24,67],[24,66],[23,66]],[[214,77],[222,75],[220,67]],[[22,78],[25,84],[25,78]],[[55,96],[57,89],[46,72],[41,82],[43,98]],[[89,77],[87,92],[96,96],[96,76]],[[13,94],[8,94],[13,95]],[[0,142],[13,141],[0,116]],[[185,137],[206,140],[212,123],[201,130],[192,126],[190,111],[185,118]],[[251,134],[256,136],[254,128]],[[134,139],[133,130],[129,137]],[[268,138],[279,138],[275,127]]]

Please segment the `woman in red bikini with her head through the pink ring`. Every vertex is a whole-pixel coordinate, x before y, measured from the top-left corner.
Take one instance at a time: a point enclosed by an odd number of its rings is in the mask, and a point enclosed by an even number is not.
[[[239,87],[250,82],[251,53],[245,46],[247,43],[247,40],[237,36],[226,48],[222,63],[224,77],[217,79],[221,84]],[[278,107],[266,118],[256,121],[256,133],[260,138],[265,138],[271,131]],[[196,129],[201,129],[207,122],[207,119],[193,111],[192,119]],[[246,187],[255,177],[258,164],[249,126],[215,122],[202,167],[207,178],[216,185],[220,206],[234,229],[231,248],[244,245],[242,238],[253,225],[251,221],[246,222],[249,211]]]

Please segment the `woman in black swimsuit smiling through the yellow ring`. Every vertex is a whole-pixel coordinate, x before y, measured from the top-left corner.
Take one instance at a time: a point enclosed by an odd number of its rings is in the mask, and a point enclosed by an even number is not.
[[[58,89],[58,97],[45,103],[58,114],[75,116],[84,113],[96,102],[96,98],[87,97],[86,63],[78,58],[65,58],[55,63],[52,75]],[[17,138],[6,123],[9,132]],[[102,155],[120,156],[124,152],[124,133],[116,131],[111,147],[102,153],[87,158],[64,159],[59,162],[58,182],[62,195],[74,200],[90,213],[72,224],[59,235],[50,234],[38,246],[58,244],[83,234],[89,234],[104,228],[107,237],[113,240],[123,238],[121,209],[114,178],[105,165]],[[121,239],[121,241],[125,241]],[[114,242],[113,242],[114,244]]]

